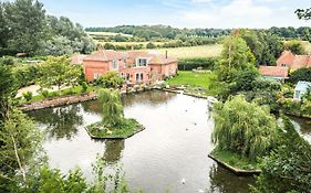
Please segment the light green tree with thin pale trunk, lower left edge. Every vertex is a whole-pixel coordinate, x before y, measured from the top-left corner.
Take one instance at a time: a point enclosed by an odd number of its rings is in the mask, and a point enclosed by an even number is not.
[[[41,161],[42,136],[34,124],[21,111],[12,109],[8,112],[0,132],[0,181],[8,183],[27,184],[28,171],[38,167]],[[21,176],[21,180],[19,180]]]

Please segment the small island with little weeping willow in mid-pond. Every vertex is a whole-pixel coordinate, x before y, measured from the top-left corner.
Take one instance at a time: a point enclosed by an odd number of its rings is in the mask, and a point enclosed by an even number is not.
[[[85,129],[91,138],[126,139],[145,129],[137,120],[124,117],[118,90],[101,90],[100,100],[103,104],[103,120],[86,126]]]

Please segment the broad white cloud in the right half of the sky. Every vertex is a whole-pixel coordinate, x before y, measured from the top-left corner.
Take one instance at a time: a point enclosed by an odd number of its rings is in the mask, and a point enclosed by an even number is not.
[[[182,12],[179,23],[191,28],[257,29],[308,24],[297,19],[293,13],[294,8],[276,7],[278,3],[271,4],[268,1],[272,3],[272,1],[279,0],[231,0],[226,4],[210,2]]]

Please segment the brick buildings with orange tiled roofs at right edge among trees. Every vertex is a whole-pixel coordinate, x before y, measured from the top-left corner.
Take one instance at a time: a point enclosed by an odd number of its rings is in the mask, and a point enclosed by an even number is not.
[[[290,51],[283,51],[277,66],[259,66],[259,72],[266,77],[284,81],[290,71],[302,67],[311,67],[311,55],[296,55]]]

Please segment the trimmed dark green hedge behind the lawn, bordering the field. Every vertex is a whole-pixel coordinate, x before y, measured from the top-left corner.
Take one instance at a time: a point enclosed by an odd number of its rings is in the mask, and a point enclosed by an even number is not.
[[[179,58],[179,71],[193,71],[194,68],[201,67],[204,69],[214,69],[218,57],[194,57],[194,58]]]

